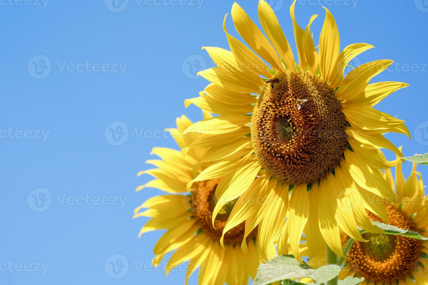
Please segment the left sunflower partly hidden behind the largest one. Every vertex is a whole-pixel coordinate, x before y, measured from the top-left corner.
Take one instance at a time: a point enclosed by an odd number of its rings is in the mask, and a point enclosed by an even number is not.
[[[182,135],[184,129],[192,122],[182,116],[177,119],[177,129],[169,129],[181,148],[184,148],[193,138]],[[197,144],[197,141],[195,142]],[[150,217],[140,231],[139,237],[149,231],[167,229],[164,235],[155,245],[155,258],[152,263],[158,266],[167,253],[172,253],[165,273],[181,263],[190,261],[187,265],[186,284],[189,276],[198,268],[199,284],[248,284],[251,276],[256,276],[259,263],[262,261],[259,248],[256,246],[257,231],[247,235],[248,255],[236,247],[244,236],[244,222],[233,227],[223,239],[224,247],[220,246],[223,227],[225,226],[233,203],[224,208],[226,211],[215,219],[215,229],[211,224],[212,210],[215,206],[214,191],[221,178],[209,179],[195,183],[194,187],[187,190],[187,183],[195,175],[193,166],[202,160],[206,150],[189,150],[185,158],[178,150],[156,147],[152,154],[156,154],[161,160],[149,160],[147,163],[158,168],[145,170],[138,173],[155,176],[155,180],[146,185],[139,186],[137,191],[145,187],[159,188],[168,193],[166,195],[152,197],[134,211],[135,217]],[[209,164],[200,164],[200,169],[209,168]],[[148,209],[145,209],[148,208]],[[140,212],[142,209],[144,211]],[[276,256],[274,244],[271,244],[269,256]]]

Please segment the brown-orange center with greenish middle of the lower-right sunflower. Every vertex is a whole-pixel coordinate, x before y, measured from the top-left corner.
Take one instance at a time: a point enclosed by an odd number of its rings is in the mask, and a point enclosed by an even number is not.
[[[391,225],[417,231],[413,220],[400,209],[387,206],[386,210]],[[381,221],[375,214],[369,213],[369,217]],[[359,277],[371,282],[389,284],[409,276],[422,256],[422,242],[413,238],[373,233],[364,238],[369,241],[354,242],[347,260]]]

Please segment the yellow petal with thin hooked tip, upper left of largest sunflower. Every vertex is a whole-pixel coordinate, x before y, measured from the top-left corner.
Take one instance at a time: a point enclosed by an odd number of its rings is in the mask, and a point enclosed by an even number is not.
[[[230,50],[232,51],[238,63],[242,65],[241,70],[262,74],[263,76],[270,78],[272,74],[269,72],[268,67],[262,61],[262,59],[253,53],[253,51],[250,50],[245,44],[241,43],[241,41],[238,41],[236,38],[229,35],[226,29],[226,17],[227,14],[224,16],[223,30],[226,33]]]

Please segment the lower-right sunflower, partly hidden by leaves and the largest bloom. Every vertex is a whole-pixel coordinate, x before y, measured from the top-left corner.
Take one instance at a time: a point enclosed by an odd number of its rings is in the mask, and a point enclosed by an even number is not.
[[[416,164],[409,178],[404,182],[401,165],[395,168],[395,183],[391,170],[384,174],[392,188],[396,187],[398,204],[385,206],[389,224],[401,229],[418,232],[428,237],[428,196],[425,196],[422,176],[416,171]],[[372,220],[380,218],[369,213]],[[410,285],[428,284],[428,241],[420,241],[383,233],[366,233],[368,242],[356,241],[345,259],[345,266],[339,279],[348,276],[364,277],[365,284]],[[342,241],[348,240],[342,235]],[[309,261],[313,267],[326,264],[325,253]],[[301,282],[312,282],[303,279]]]

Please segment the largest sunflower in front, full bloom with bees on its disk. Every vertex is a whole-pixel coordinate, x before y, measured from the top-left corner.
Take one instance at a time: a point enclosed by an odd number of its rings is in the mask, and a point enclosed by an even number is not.
[[[392,200],[394,192],[378,169],[390,168],[400,159],[387,161],[377,150],[389,149],[402,157],[383,132],[409,137],[410,133],[403,120],[373,108],[408,86],[401,82],[369,85],[392,61],[360,65],[343,78],[351,59],[373,46],[351,44],[339,53],[339,31],[333,15],[324,8],[317,49],[310,30],[317,15],[302,29],[294,6],[295,1],[290,14],[298,65],[268,3],[259,2],[259,20],[267,38],[233,4],[235,28],[252,50],[229,34],[226,14],[223,30],[231,51],[203,47],[217,67],[199,72],[211,84],[200,97],[185,102],[219,116],[194,123],[184,133],[205,135],[188,148],[208,148],[202,161],[212,163],[209,175],[201,173],[192,182],[223,177],[216,190],[212,222],[223,206],[239,197],[223,235],[246,220],[244,237],[258,226],[262,254],[276,240],[279,253],[287,253],[289,240],[297,260],[302,261],[297,250],[302,233],[311,257],[324,241],[342,256],[341,230],[357,241],[364,241],[358,226],[376,231],[366,209],[387,221],[386,209],[372,201],[377,197]],[[361,203],[351,203],[351,198]],[[287,206],[278,206],[283,204]]]

